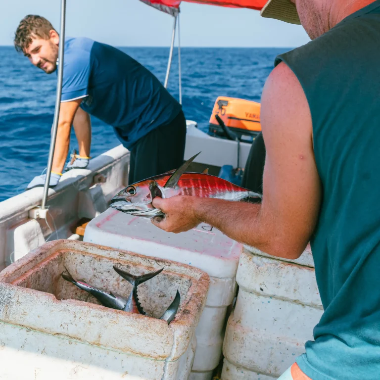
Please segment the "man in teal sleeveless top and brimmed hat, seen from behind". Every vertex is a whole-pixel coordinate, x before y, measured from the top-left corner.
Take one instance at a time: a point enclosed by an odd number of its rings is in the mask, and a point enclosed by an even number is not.
[[[157,198],[153,223],[206,222],[289,259],[310,240],[324,314],[281,380],[379,380],[380,0],[271,0],[262,15],[313,40],[277,57],[263,91],[262,204]]]

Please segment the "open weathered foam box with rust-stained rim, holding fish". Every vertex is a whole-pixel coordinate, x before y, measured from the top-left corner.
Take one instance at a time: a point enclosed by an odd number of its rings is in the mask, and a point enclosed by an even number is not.
[[[154,318],[103,307],[61,277],[67,268],[127,295],[131,285],[112,264],[136,275],[164,268],[139,286]],[[169,260],[73,240],[46,243],[0,274],[0,379],[188,379],[208,285],[206,273]],[[168,325],[157,317],[177,289],[181,304]]]

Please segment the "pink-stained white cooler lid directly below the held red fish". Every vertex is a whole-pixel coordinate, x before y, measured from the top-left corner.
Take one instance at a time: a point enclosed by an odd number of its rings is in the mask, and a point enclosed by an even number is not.
[[[189,264],[217,278],[236,276],[242,251],[241,244],[204,223],[173,234],[155,227],[150,219],[112,208],[87,225],[84,241]]]

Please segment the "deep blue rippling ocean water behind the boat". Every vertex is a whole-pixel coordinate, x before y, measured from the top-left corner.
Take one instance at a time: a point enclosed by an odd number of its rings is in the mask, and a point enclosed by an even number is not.
[[[167,47],[122,47],[163,82]],[[204,130],[220,95],[260,101],[277,54],[286,48],[181,49],[183,109]],[[178,99],[175,52],[168,89]],[[0,47],[0,201],[22,192],[47,165],[56,74],[32,66],[13,47]],[[111,127],[92,118],[91,156],[119,144]],[[70,149],[76,147],[74,132]]]

